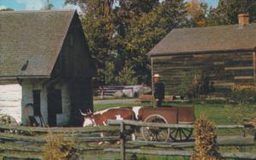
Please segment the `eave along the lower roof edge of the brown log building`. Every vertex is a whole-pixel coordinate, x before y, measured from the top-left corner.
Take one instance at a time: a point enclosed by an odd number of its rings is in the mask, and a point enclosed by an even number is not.
[[[223,49],[223,50],[205,50],[205,51],[190,51],[190,52],[170,52],[170,53],[148,53],[150,57],[165,56],[165,55],[180,55],[180,54],[218,54],[218,53],[236,53],[256,51],[256,48],[250,49]]]

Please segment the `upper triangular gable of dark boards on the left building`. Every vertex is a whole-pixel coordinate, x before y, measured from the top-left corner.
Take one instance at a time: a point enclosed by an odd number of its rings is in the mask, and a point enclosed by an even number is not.
[[[90,52],[84,38],[79,15],[74,14],[52,77],[90,77],[92,74],[90,63]]]

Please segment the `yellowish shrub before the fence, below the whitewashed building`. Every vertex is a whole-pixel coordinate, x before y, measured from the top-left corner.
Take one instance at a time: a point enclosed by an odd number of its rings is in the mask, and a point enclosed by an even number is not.
[[[79,153],[74,147],[75,143],[71,140],[64,140],[61,134],[49,134],[47,143],[44,146],[45,160],[76,160]]]

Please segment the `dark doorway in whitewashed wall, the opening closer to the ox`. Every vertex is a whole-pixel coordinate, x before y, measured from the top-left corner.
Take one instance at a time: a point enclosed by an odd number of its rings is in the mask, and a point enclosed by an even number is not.
[[[57,124],[56,114],[62,112],[61,89],[48,89],[48,124],[55,127]]]

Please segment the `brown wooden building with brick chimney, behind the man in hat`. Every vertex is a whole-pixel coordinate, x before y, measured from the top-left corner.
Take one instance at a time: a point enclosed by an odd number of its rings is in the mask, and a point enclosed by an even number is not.
[[[173,29],[148,54],[166,94],[178,94],[183,77],[193,70],[206,71],[215,94],[224,94],[234,84],[256,83],[255,47],[256,24],[239,14],[237,25]]]

